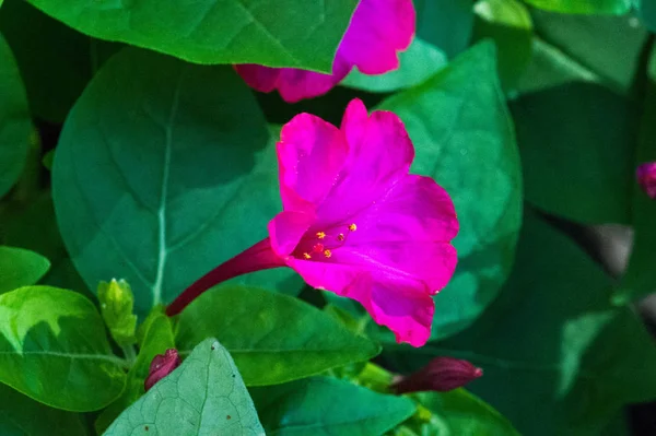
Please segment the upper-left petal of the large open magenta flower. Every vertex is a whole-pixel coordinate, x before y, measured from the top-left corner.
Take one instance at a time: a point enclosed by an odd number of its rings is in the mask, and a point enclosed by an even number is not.
[[[349,152],[343,133],[308,114],[288,122],[277,144],[282,204],[285,210],[305,210],[307,202],[324,200]]]

